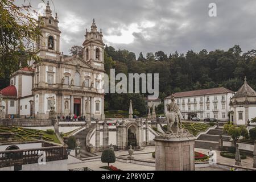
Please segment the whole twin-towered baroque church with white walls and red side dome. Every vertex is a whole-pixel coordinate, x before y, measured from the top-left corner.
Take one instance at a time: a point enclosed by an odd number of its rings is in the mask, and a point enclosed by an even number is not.
[[[10,86],[1,90],[3,115],[14,118],[47,119],[51,103],[57,116],[84,116],[104,119],[104,42],[96,23],[85,34],[83,58],[60,53],[57,14],[52,16],[49,3],[39,16],[42,36],[38,40],[38,64],[23,68],[10,78]],[[53,102],[52,102],[53,101]]]

